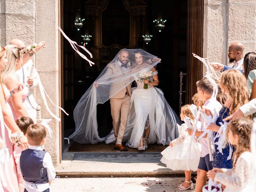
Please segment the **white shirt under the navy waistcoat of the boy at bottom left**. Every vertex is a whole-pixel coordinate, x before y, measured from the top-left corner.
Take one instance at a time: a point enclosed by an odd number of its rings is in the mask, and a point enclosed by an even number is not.
[[[30,145],[29,147],[30,149],[32,150],[43,150],[43,148],[41,146],[33,146],[33,145]],[[46,154],[44,155],[44,159],[43,159],[43,166],[44,168],[46,168],[47,170],[47,176],[48,176],[48,180],[49,181],[52,181],[54,180],[55,176],[56,176],[56,173],[55,173],[55,169],[54,169],[54,166],[52,164],[52,158],[51,158],[51,155],[46,152]],[[18,173],[21,174],[21,171],[20,171],[20,162],[18,162]],[[44,184],[34,184],[34,183],[30,183],[30,182],[27,182],[25,181],[24,183],[24,186],[26,188],[26,190],[28,192],[42,192],[48,188],[50,188],[50,184],[49,183],[44,183]]]

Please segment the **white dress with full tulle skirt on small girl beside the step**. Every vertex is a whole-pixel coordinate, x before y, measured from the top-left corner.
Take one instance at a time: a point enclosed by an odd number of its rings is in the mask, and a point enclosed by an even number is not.
[[[161,162],[172,170],[192,170],[196,171],[198,168],[201,144],[196,141],[196,138],[192,140],[187,132],[188,126],[184,123],[179,126],[179,137],[172,140],[172,147],[168,146],[161,152]]]

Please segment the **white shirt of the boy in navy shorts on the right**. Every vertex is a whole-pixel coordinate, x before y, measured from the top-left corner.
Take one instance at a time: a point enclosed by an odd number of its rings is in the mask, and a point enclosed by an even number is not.
[[[214,98],[210,98],[209,100],[207,100],[204,103],[204,106],[205,106],[206,109],[210,110],[212,112],[212,114],[214,113],[214,110],[216,111],[216,113],[219,113],[220,109],[222,108],[222,104],[220,104],[220,102],[218,102]],[[212,122],[212,123],[215,123],[215,122]],[[204,125],[204,122],[202,122],[201,131],[206,130],[206,127],[204,127],[203,125]],[[207,140],[208,140],[208,138],[201,138],[198,141],[202,145],[201,157],[204,157],[207,154],[209,154],[208,141]]]

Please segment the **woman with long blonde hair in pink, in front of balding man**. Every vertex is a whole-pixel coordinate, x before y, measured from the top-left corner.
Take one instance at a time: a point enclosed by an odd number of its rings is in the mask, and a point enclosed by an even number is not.
[[[16,86],[17,83],[21,83],[23,77],[17,76],[15,72],[22,67],[23,63],[23,55],[21,49],[15,45],[7,45],[5,46],[6,55],[8,63],[6,67],[2,71],[2,82],[6,85],[8,89]],[[14,116],[14,120],[16,120],[20,116],[28,116],[26,111],[26,106],[24,106],[25,98],[28,96],[28,88],[24,86],[23,90],[16,93],[11,94],[11,97],[7,102],[10,104],[12,108],[12,114]]]

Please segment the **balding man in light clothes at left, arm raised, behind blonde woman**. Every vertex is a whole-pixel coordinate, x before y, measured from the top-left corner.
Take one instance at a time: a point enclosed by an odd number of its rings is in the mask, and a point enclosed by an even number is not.
[[[20,48],[23,48],[23,50],[25,49],[24,42],[22,42],[22,40],[19,40],[19,39],[11,40],[10,45],[16,45]],[[24,52],[23,66],[22,68],[16,71],[16,74],[20,74],[20,76],[23,76],[23,79],[21,80],[22,82],[19,82],[19,83],[27,83],[28,88],[30,89],[28,93],[28,97],[26,97],[24,104],[26,105],[28,116],[32,118],[35,124],[36,124],[36,107],[38,104],[34,99],[31,89],[35,88],[38,85],[38,80],[36,78],[36,74],[37,74],[36,68],[33,68],[32,75],[30,76],[30,72],[33,66],[33,62],[31,58],[35,52],[38,52],[41,48],[44,48],[44,46],[45,46],[45,42],[40,42],[32,52],[27,52],[27,53]]]

